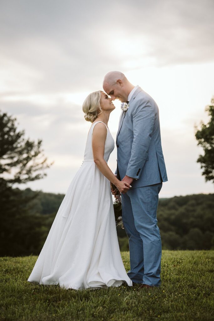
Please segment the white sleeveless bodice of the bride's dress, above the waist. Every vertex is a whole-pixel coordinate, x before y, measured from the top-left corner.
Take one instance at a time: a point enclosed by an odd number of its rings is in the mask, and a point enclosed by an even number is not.
[[[92,135],[93,135],[94,126],[97,123],[103,123],[103,122],[102,121],[97,121],[96,123],[94,123],[91,126],[91,128],[89,130],[88,137],[87,137],[87,141],[86,141],[84,160],[83,161],[87,161],[87,160],[93,161]],[[103,124],[106,126],[105,123],[103,123]],[[111,133],[110,133],[110,131],[109,131],[107,126],[106,126],[106,128],[107,128],[107,136],[106,136],[106,142],[105,142],[104,160],[106,160],[106,162],[107,162],[111,152],[115,148],[115,141],[114,141],[114,139],[113,139],[113,137],[112,137],[112,135],[111,135]]]

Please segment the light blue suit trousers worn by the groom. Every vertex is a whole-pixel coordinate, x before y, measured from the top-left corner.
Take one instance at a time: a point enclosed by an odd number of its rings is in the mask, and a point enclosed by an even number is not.
[[[162,182],[130,189],[122,196],[122,217],[129,238],[129,278],[158,287],[162,246],[157,225],[158,194]]]

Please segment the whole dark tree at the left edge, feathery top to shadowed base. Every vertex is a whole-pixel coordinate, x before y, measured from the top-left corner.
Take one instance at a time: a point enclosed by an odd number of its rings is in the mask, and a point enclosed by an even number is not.
[[[30,216],[28,204],[34,195],[24,195],[14,184],[41,179],[49,168],[42,154],[42,140],[37,143],[24,138],[18,131],[16,118],[0,111],[0,256],[28,255],[38,251],[43,221],[39,215]]]

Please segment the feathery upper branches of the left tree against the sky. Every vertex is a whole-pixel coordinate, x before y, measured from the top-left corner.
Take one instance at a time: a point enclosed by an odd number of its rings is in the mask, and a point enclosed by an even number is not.
[[[18,131],[16,118],[0,111],[0,175],[7,186],[26,183],[46,176],[41,173],[53,163],[47,164],[41,150],[42,140],[35,143],[24,138],[24,130]],[[5,174],[10,174],[6,175]]]

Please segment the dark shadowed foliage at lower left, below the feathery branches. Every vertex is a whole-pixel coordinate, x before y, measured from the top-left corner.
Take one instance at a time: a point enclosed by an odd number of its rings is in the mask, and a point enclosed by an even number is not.
[[[23,197],[18,188],[5,187],[1,191],[1,256],[29,255],[38,253],[41,248],[42,217],[29,215],[28,204],[31,200],[30,197]]]

